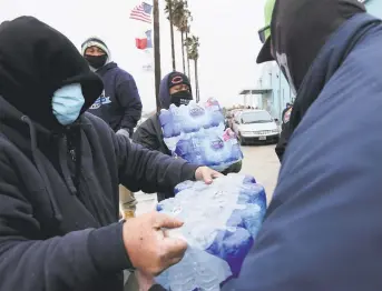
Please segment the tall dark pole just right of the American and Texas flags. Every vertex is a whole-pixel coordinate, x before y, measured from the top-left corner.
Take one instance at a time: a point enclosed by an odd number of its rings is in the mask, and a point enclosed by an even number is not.
[[[157,103],[157,112],[160,110],[159,86],[161,80],[160,68],[160,31],[159,31],[159,3],[158,0],[153,0],[154,3],[154,66],[155,66],[155,99]]]

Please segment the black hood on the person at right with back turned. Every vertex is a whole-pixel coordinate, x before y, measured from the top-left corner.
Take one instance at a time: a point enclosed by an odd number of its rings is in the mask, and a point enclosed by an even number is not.
[[[283,128],[276,147],[281,161],[293,131],[319,96],[306,96],[305,89],[302,90],[306,87],[306,73],[332,33],[347,19],[362,12],[365,8],[357,0],[276,1],[271,22],[273,56],[296,94],[290,122]]]

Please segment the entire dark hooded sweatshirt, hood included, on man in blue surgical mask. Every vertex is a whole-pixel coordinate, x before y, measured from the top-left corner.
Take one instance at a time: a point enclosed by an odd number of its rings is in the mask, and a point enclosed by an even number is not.
[[[31,17],[0,26],[0,290],[121,291],[131,267],[118,184],[169,191],[196,167],[131,144],[84,113],[60,126],[53,92],[102,91],[75,46]]]

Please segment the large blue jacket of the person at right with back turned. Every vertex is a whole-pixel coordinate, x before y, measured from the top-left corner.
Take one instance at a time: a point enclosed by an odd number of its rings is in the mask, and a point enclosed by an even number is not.
[[[381,20],[356,14],[311,66],[266,219],[224,291],[382,290],[381,47]]]

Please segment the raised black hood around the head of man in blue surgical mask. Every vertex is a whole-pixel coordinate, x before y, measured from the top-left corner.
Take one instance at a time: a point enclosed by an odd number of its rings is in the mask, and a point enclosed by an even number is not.
[[[80,83],[85,112],[102,92],[76,47],[62,33],[32,17],[0,24],[0,94],[17,110],[47,129],[60,129],[52,96],[66,84]]]

